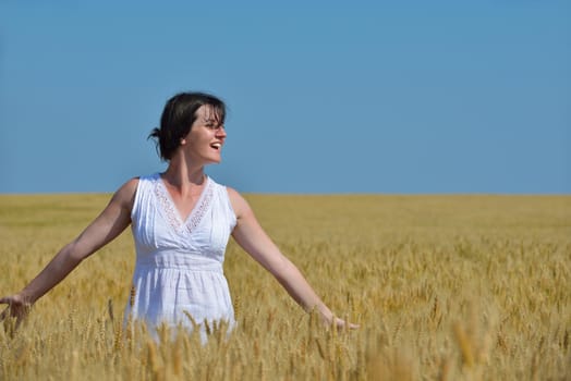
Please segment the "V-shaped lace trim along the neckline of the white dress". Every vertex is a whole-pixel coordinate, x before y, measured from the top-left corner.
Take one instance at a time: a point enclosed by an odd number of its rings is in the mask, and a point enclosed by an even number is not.
[[[201,223],[204,214],[210,206],[214,195],[210,179],[206,177],[205,181],[205,188],[201,194],[198,200],[196,201],[196,205],[186,218],[186,221],[182,221],[181,217],[179,216],[179,211],[174,207],[174,202],[172,201],[172,198],[170,197],[167,190],[167,187],[160,179],[160,175],[157,175],[154,187],[155,196],[157,197],[160,204],[160,209],[163,212],[167,222],[171,225],[173,230],[180,231],[182,228],[185,228],[189,233],[192,233]]]

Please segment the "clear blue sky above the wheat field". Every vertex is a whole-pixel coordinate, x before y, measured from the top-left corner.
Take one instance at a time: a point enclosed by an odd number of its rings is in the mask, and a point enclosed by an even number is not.
[[[276,3],[0,0],[0,193],[161,171],[205,90],[241,192],[571,194],[569,1]]]

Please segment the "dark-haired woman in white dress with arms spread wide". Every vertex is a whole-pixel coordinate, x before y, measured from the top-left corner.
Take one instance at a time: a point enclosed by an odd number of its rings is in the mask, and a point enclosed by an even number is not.
[[[266,235],[246,200],[205,174],[205,165],[221,160],[224,116],[224,103],[211,95],[182,93],[172,97],[160,128],[150,134],[168,162],[167,170],[122,185],[104,211],[28,285],[0,298],[9,305],[0,319],[12,316],[20,324],[38,298],[131,224],[136,266],[125,318],[145,322],[151,331],[162,323],[192,329],[192,320],[233,324],[222,272],[230,235],[305,310],[315,309],[327,324],[355,328],[333,316]]]

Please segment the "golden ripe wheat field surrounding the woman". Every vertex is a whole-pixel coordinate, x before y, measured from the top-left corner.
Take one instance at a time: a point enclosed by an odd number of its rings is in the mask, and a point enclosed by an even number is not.
[[[230,242],[238,327],[157,344],[123,330],[131,232],[10,334],[0,380],[571,380],[571,196],[246,195],[327,305],[304,312]],[[0,294],[25,285],[109,195],[0,196]]]

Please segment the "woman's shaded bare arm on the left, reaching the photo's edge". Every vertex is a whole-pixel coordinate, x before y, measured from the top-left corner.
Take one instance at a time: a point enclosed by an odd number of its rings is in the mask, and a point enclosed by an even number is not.
[[[16,318],[19,325],[37,299],[60,283],[82,260],[121,234],[131,223],[137,183],[137,179],[132,179],[121,186],[104,211],[21,292],[0,298],[0,304],[9,305],[0,314],[0,320],[11,316]]]

